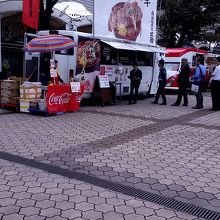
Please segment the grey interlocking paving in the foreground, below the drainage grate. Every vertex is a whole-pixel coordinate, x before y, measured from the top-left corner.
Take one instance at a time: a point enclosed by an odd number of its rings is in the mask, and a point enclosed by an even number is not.
[[[16,170],[25,166],[0,160],[0,216],[2,220],[11,219],[198,219],[191,215],[175,210],[166,209],[151,202],[124,196],[123,194],[108,191],[106,189],[86,184],[63,176],[49,174],[47,172],[31,169],[25,177],[37,177],[42,190],[36,190],[36,186],[28,186],[20,190],[22,194],[16,194],[12,190],[12,180],[5,180],[7,176],[17,176],[23,179],[22,173]],[[8,172],[8,168],[15,172]],[[39,174],[47,177],[47,191],[44,181]],[[4,182],[4,180],[6,182]],[[20,181],[19,186],[29,185],[32,178]],[[54,187],[54,184],[57,186]],[[5,189],[4,186],[9,186]],[[4,195],[4,196],[3,196]],[[23,195],[26,195],[25,198]]]

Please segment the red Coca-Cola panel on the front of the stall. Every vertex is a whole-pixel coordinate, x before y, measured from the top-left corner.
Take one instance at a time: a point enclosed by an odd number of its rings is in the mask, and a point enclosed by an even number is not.
[[[83,93],[83,85],[81,85],[80,93],[72,93],[69,84],[48,86],[46,96],[48,113],[53,114],[79,110]]]

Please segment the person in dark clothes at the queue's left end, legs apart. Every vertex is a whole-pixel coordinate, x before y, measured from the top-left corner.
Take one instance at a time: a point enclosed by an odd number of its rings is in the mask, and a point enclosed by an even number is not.
[[[161,96],[163,99],[163,102],[160,103],[160,105],[166,105],[167,99],[166,99],[166,95],[165,95],[165,86],[166,86],[166,81],[167,81],[167,71],[164,67],[164,60],[159,60],[159,68],[160,68],[159,77],[158,77],[159,87],[157,89],[156,98],[151,103],[158,104],[158,100]]]

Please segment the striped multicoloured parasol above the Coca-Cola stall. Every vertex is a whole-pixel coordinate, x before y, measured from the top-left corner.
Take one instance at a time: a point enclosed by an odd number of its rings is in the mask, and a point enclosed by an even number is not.
[[[76,47],[76,42],[63,35],[41,35],[28,42],[23,50],[26,52],[47,53]]]

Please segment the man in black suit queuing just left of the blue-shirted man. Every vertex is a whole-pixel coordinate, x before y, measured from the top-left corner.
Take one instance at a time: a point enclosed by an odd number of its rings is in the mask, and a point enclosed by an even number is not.
[[[191,70],[188,65],[188,59],[182,58],[181,60],[181,67],[180,67],[180,73],[177,78],[177,82],[179,84],[178,88],[178,96],[177,100],[174,104],[171,106],[179,106],[182,100],[182,96],[184,98],[183,106],[188,105],[188,97],[187,97],[187,88],[189,85],[189,76],[190,76]]]

